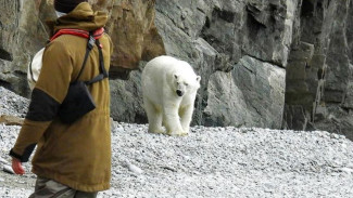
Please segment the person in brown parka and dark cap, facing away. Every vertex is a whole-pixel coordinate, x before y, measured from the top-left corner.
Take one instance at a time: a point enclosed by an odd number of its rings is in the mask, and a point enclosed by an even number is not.
[[[93,12],[87,0],[55,0],[60,16],[54,31],[80,29],[93,31],[104,27],[108,15]],[[99,39],[104,68],[109,70],[112,41],[106,34]],[[12,168],[24,174],[23,162],[31,160],[31,172],[37,175],[37,197],[97,197],[98,192],[110,188],[111,130],[110,88],[104,78],[88,87],[96,108],[66,124],[58,117],[70,83],[78,76],[84,62],[88,39],[62,35],[46,45],[40,76],[31,93],[26,118],[14,147],[10,150]],[[100,74],[99,50],[89,53],[79,80],[91,80]]]

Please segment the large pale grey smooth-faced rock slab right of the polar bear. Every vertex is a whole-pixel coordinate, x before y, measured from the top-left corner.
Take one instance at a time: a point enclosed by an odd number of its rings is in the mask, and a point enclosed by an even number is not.
[[[245,56],[232,75],[247,104],[247,110],[237,109],[237,114],[248,114],[243,115],[249,118],[247,126],[279,129],[285,106],[285,69]]]

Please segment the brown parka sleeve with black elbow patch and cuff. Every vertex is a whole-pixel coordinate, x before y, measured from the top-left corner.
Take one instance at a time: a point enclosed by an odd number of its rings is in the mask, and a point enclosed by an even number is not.
[[[73,72],[73,62],[63,42],[49,43],[42,57],[42,68],[31,93],[28,111],[10,156],[26,162],[36,144],[58,114],[66,96]]]

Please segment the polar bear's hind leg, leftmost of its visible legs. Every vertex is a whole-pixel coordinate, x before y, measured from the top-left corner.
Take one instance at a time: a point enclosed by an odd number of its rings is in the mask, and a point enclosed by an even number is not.
[[[162,113],[157,109],[153,103],[148,98],[143,97],[144,110],[149,120],[149,132],[150,133],[164,133],[162,128]]]

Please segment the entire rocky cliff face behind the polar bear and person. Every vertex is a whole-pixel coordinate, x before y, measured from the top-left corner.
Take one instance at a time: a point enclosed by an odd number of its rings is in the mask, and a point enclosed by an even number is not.
[[[147,121],[140,71],[166,53],[202,76],[193,124],[318,128],[353,138],[352,0],[91,3],[110,13],[112,65],[137,69],[111,80],[114,119]],[[0,4],[0,84],[28,96],[26,66],[48,38],[50,1]]]

